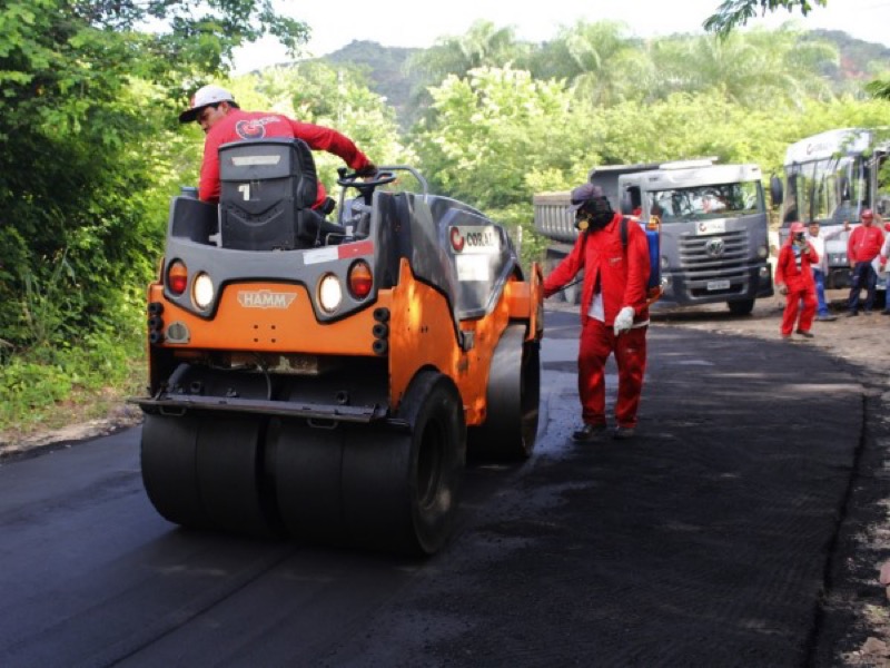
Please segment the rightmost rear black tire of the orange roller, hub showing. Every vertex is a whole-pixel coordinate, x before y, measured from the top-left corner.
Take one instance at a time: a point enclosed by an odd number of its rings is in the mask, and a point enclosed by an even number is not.
[[[407,431],[344,442],[347,533],[362,546],[433,554],[451,537],[466,466],[466,424],[454,383],[435,371],[411,382],[396,415]]]

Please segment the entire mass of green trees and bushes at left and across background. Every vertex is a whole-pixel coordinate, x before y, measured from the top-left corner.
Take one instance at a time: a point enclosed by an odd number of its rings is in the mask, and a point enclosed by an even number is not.
[[[582,22],[531,45],[481,22],[427,50],[387,57],[356,42],[350,58],[227,79],[238,45],[271,32],[296,53],[305,40],[307,27],[270,4],[0,7],[0,432],[24,412],[48,420],[41,406],[72,392],[139,376],[167,203],[198,171],[202,135],[176,111],[204,82],[231,88],[244,108],[336,127],[377,164],[416,165],[437,190],[522,228],[527,259],[543,245],[532,194],[593,165],[713,155],[769,174],[801,136],[884,125],[890,110],[864,90],[888,78],[886,58],[862,66],[868,77],[844,76],[835,42],[793,26],[643,42],[619,23]],[[380,76],[397,100],[379,95]],[[333,185],[339,161],[317,160]]]

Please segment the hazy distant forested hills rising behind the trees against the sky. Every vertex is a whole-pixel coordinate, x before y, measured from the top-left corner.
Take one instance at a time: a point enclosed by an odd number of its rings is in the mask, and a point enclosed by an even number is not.
[[[876,63],[883,71],[890,69],[890,48],[883,45],[856,39],[840,30],[811,30],[808,38],[827,41],[838,48],[840,66],[827,67],[824,71],[838,92],[847,89],[851,80],[861,82],[878,75]],[[413,108],[412,95],[423,81],[422,75],[408,71],[405,66],[412,55],[423,50],[384,47],[375,41],[356,40],[319,60],[360,68],[367,77],[368,87],[387,99],[404,127],[406,118],[411,116],[409,109]],[[880,67],[881,63],[883,67]]]

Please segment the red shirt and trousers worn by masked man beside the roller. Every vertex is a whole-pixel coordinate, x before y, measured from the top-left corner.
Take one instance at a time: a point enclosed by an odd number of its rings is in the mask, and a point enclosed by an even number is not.
[[[615,419],[619,426],[634,428],[646,370],[649,243],[642,227],[629,220],[625,250],[621,217],[615,214],[603,229],[578,236],[568,256],[544,281],[544,296],[556,293],[584,269],[577,358],[582,418],[586,424],[605,424],[605,363],[614,353],[619,369]],[[595,286],[603,296],[604,322],[589,315]],[[615,316],[623,306],[633,307],[634,326],[615,336]]]

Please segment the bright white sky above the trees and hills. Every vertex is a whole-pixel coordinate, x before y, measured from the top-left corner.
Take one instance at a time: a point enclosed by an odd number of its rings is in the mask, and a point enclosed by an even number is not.
[[[477,20],[512,27],[528,41],[553,39],[561,27],[580,20],[626,23],[629,35],[649,38],[676,32],[702,35],[702,23],[721,0],[275,0],[276,10],[308,23],[307,57],[320,57],[353,40],[384,47],[427,48],[436,39],[462,36]],[[774,29],[794,20],[803,29],[842,30],[852,37],[890,47],[890,0],[828,0],[807,17],[785,9],[749,21],[745,28]],[[236,73],[287,61],[284,49],[265,40],[237,52]]]

